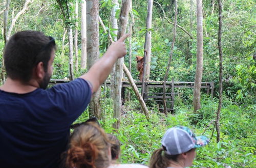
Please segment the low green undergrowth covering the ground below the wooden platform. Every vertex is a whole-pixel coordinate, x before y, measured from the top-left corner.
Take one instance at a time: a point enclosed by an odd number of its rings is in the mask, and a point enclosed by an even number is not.
[[[100,121],[107,133],[113,133],[113,108],[108,100],[104,109],[104,119]],[[197,149],[193,167],[256,167],[255,164],[255,111],[256,105],[236,105],[226,97],[221,110],[221,141],[216,143],[214,122],[218,100],[202,96],[202,107],[195,114],[191,105],[179,101],[175,114],[167,116],[156,107],[150,109],[150,120],[143,115],[138,101],[126,102],[122,109],[121,125],[118,133],[122,163],[148,164],[152,152],[161,147],[164,132],[174,126],[191,128],[196,135],[204,134],[211,138],[210,143]],[[77,119],[88,119],[88,111]],[[211,123],[211,124],[210,124]],[[210,124],[210,125],[209,125]]]

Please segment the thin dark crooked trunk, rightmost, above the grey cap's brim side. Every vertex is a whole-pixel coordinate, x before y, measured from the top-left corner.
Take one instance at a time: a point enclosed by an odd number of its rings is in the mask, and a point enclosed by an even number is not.
[[[221,46],[221,29],[222,29],[222,3],[221,0],[218,0],[219,5],[219,32],[218,32],[218,47],[219,47],[219,57],[220,57],[220,75],[219,75],[219,106],[217,110],[217,118],[216,118],[216,130],[217,130],[217,143],[220,141],[220,112],[221,112],[221,105],[222,105],[222,46]]]

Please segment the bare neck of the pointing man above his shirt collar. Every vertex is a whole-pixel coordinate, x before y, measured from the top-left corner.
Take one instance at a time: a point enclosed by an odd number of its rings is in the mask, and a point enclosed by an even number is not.
[[[0,90],[11,93],[24,94],[29,93],[39,88],[36,82],[30,81],[28,83],[23,83],[19,80],[13,80],[7,77],[6,82],[0,87]]]

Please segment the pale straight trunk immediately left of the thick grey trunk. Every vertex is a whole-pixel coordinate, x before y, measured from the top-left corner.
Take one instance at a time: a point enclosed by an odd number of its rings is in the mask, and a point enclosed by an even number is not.
[[[81,69],[87,65],[86,0],[81,2]]]

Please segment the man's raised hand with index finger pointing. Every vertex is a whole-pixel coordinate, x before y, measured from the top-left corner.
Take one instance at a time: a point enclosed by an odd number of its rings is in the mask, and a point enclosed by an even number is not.
[[[124,57],[126,52],[126,47],[124,40],[129,36],[129,34],[123,35],[119,40],[111,44],[106,52],[117,57],[117,59]]]

